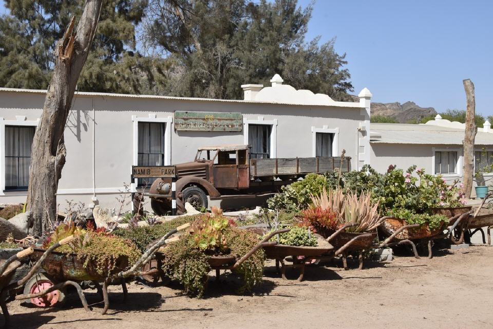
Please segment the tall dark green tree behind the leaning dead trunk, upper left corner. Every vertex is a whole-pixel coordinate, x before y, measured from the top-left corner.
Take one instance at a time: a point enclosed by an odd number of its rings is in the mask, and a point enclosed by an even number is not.
[[[55,43],[83,5],[83,0],[6,0],[10,14],[0,17],[0,86],[47,88]],[[146,6],[147,0],[104,1],[79,90],[141,93],[159,79],[163,61],[136,51],[136,26]]]

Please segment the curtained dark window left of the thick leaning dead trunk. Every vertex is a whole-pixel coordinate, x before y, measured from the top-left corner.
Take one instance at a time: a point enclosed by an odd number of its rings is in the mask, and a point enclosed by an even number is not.
[[[5,189],[24,190],[29,185],[33,126],[5,126]]]

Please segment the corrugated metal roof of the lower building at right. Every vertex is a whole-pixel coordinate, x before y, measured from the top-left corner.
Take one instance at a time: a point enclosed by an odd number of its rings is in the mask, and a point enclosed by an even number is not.
[[[463,129],[430,124],[370,124],[371,143],[462,145],[463,140]],[[478,131],[475,144],[493,145],[493,133]]]

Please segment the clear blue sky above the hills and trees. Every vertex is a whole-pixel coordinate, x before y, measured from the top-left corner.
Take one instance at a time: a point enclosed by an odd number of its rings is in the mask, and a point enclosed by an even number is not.
[[[306,40],[336,38],[354,94],[367,87],[375,102],[414,101],[443,112],[465,109],[462,80],[471,79],[476,112],[493,115],[491,12],[490,0],[317,0]]]

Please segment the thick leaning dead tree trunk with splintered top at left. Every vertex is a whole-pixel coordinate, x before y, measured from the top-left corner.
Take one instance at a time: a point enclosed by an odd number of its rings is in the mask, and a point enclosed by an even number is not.
[[[55,50],[53,77],[32,142],[27,210],[31,231],[40,236],[56,220],[56,189],[65,164],[63,133],[75,85],[96,33],[103,0],[86,0],[74,30],[72,17]]]

